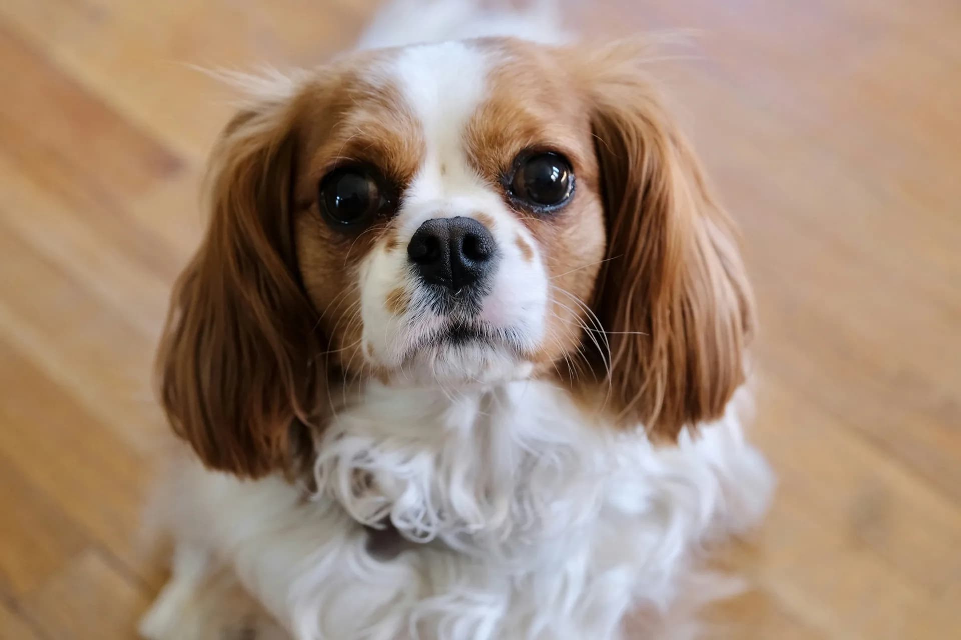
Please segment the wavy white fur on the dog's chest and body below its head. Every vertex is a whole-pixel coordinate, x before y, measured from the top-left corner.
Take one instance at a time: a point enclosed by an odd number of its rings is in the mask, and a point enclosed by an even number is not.
[[[772,482],[733,406],[677,448],[595,421],[546,383],[371,383],[327,431],[312,501],[187,460],[164,513],[298,640],[621,638],[628,612],[669,610],[702,543],[756,521]],[[417,546],[373,557],[358,523],[384,517]]]

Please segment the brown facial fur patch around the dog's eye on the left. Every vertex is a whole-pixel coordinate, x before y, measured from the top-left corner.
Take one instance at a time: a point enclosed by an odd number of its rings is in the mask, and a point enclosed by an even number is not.
[[[308,202],[294,225],[297,266],[310,301],[320,314],[318,331],[330,336],[332,364],[349,378],[369,375],[364,365],[357,272],[373,250],[399,249],[387,217],[365,227],[329,224],[317,203],[317,184],[334,168],[360,164],[382,177],[399,199],[424,154],[421,127],[397,87],[368,73],[394,52],[363,52],[317,74],[306,95],[296,166],[295,198]],[[394,307],[403,306],[401,299]]]

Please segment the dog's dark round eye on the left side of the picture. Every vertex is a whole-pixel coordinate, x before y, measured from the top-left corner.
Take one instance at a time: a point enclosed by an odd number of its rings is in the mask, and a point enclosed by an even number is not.
[[[321,213],[335,225],[360,225],[382,211],[387,201],[378,180],[363,168],[335,169],[320,181]]]

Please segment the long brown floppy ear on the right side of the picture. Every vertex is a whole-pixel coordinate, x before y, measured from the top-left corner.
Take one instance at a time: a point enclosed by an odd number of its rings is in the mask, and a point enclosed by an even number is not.
[[[587,81],[607,226],[594,310],[609,355],[595,367],[620,418],[675,439],[722,415],[744,381],[753,303],[732,224],[653,93],[644,54],[612,46]]]

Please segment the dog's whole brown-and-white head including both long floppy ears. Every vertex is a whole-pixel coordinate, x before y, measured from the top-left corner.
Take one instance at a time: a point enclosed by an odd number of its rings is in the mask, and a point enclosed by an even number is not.
[[[719,415],[750,293],[640,55],[488,39],[265,86],[214,151],[161,349],[179,433],[259,475],[369,379],[550,377],[669,436]]]

